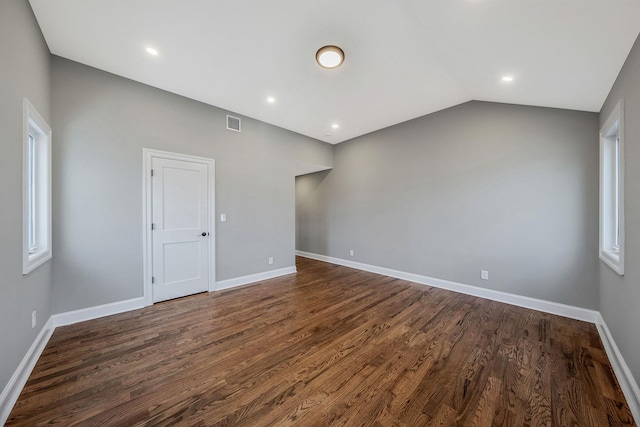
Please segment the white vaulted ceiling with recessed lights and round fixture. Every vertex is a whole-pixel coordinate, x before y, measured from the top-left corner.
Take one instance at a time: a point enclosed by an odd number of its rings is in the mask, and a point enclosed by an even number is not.
[[[30,1],[53,54],[333,144],[468,100],[599,111],[640,32],[638,0]]]

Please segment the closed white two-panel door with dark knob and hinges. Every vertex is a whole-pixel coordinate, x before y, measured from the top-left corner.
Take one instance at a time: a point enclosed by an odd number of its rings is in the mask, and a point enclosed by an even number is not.
[[[152,160],[153,301],[209,288],[209,168]]]

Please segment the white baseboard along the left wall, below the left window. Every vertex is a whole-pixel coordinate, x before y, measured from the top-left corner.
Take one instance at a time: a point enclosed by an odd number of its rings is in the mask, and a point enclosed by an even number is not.
[[[27,354],[22,358],[22,361],[11,376],[11,379],[9,379],[4,390],[2,390],[2,393],[0,394],[0,425],[4,425],[7,418],[9,418],[13,405],[15,405],[18,400],[20,392],[27,383],[29,375],[31,375],[31,371],[33,371],[33,368],[36,366],[36,363],[49,342],[49,338],[51,338],[51,334],[53,334],[54,329],[55,326],[53,326],[53,322],[50,317],[47,323],[45,323],[40,330],[40,333],[38,333],[33,344],[31,344],[31,347],[29,347]]]

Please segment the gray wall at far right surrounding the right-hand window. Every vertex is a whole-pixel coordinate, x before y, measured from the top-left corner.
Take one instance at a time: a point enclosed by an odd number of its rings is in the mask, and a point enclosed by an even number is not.
[[[625,274],[600,263],[600,312],[640,382],[640,39],[600,111],[601,125],[619,99],[625,115]]]

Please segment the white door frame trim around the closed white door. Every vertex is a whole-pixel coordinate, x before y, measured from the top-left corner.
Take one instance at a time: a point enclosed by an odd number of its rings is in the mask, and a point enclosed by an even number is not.
[[[216,283],[216,224],[215,224],[215,161],[205,157],[189,156],[186,154],[170,153],[167,151],[142,149],[142,280],[144,283],[144,300],[147,306],[153,305],[153,241],[151,231],[151,165],[153,158],[182,160],[187,162],[204,163],[209,166],[209,292],[215,290]]]

